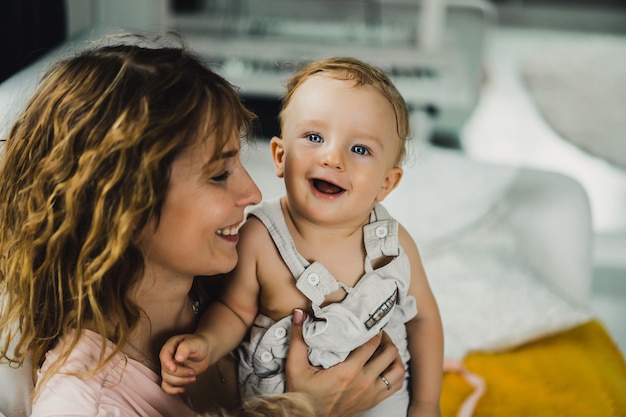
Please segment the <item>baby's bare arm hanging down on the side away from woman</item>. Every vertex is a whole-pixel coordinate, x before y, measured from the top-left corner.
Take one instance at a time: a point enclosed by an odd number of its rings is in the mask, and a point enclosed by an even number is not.
[[[400,228],[400,244],[411,262],[409,295],[417,301],[418,314],[407,324],[411,353],[411,405],[408,415],[440,416],[443,379],[443,329],[435,297],[428,285],[419,251],[409,233]]]

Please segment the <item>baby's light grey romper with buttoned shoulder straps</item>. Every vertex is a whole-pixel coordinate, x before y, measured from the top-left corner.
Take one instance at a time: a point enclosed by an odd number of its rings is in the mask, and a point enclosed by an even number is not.
[[[314,317],[306,319],[303,332],[313,365],[329,368],[343,361],[384,327],[408,370],[405,323],[417,314],[415,299],[407,294],[411,269],[406,253],[398,244],[398,223],[381,204],[374,207],[370,223],[363,228],[365,274],[353,288],[335,280],[321,263],[309,263],[298,253],[279,200],[263,202],[250,215],[263,222],[295,277],[297,288],[311,300]],[[382,256],[391,257],[390,262],[373,269],[371,262]],[[346,297],[320,307],[324,297],[339,288],[346,291]],[[249,337],[238,348],[242,398],[284,392],[291,323],[291,316],[277,322],[263,314],[256,317]],[[407,387],[405,380],[403,390],[365,415],[406,416]]]

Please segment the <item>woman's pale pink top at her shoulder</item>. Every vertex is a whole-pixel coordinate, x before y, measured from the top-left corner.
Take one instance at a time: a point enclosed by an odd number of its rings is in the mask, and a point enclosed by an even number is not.
[[[138,361],[119,353],[95,375],[68,375],[66,371],[93,369],[100,354],[100,335],[85,330],[68,361],[45,385],[33,403],[32,417],[42,416],[197,416],[178,396],[161,390],[161,378]],[[39,370],[59,356],[59,343],[46,355]],[[108,342],[106,354],[113,351]]]

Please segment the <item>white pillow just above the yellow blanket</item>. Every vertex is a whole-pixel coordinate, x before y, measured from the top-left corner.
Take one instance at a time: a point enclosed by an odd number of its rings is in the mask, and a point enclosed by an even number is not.
[[[508,213],[503,200],[474,226],[422,250],[447,359],[510,349],[592,318],[531,269]]]

